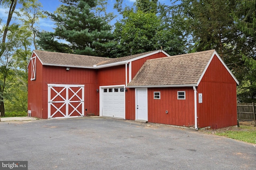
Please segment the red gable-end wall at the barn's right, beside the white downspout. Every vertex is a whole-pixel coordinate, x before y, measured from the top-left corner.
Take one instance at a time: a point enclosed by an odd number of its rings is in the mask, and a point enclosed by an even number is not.
[[[198,89],[202,104],[198,103],[198,127],[218,129],[237,125],[236,82],[214,56]]]

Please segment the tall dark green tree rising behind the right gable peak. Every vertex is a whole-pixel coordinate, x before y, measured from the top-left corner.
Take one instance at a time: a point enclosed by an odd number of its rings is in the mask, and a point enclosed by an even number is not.
[[[185,15],[184,24],[192,35],[196,51],[216,49],[223,58],[225,43],[232,41],[234,0],[182,0],[179,5]]]

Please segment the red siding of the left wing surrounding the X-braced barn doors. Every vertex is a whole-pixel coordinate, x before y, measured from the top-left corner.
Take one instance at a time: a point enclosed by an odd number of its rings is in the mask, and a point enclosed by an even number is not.
[[[28,68],[31,69],[30,65]],[[84,85],[84,108],[87,109],[84,114],[99,115],[96,70],[84,68],[66,70],[66,67],[42,66],[37,59],[36,80],[30,81],[31,70],[28,72],[28,77],[28,109],[32,111],[32,116],[48,118],[48,84]]]

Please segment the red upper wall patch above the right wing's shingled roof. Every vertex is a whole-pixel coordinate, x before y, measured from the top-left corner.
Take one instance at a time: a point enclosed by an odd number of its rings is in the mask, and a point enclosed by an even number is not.
[[[148,59],[156,59],[156,58],[161,58],[161,57],[166,57],[164,53],[156,53],[154,55],[150,55],[148,57],[144,57],[142,59],[132,61],[132,78],[137,74],[137,72],[140,70],[142,65],[146,62]]]

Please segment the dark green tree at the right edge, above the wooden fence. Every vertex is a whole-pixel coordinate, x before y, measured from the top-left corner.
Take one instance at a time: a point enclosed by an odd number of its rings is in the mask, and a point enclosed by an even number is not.
[[[236,1],[232,16],[246,45],[240,51],[247,72],[238,87],[238,99],[240,102],[256,102],[256,0]]]

